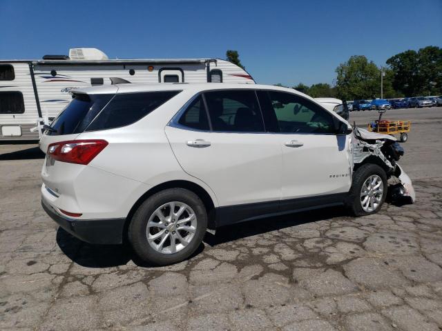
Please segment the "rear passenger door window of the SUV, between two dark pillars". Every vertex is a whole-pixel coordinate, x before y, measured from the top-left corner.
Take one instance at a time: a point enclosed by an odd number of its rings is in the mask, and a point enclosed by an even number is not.
[[[205,92],[212,130],[264,132],[261,111],[253,90]]]

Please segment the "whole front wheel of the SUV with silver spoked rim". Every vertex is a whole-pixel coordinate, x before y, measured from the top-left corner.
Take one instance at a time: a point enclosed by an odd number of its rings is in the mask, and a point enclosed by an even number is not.
[[[349,192],[349,210],[355,216],[375,214],[387,195],[387,175],[373,163],[361,165],[353,175]]]

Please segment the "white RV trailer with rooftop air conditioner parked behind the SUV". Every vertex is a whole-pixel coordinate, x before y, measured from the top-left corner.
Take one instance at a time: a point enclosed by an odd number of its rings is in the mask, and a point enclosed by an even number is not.
[[[42,60],[0,60],[0,141],[37,140],[72,99],[70,90],[115,83],[255,83],[222,59],[108,59],[96,48],[73,48]]]

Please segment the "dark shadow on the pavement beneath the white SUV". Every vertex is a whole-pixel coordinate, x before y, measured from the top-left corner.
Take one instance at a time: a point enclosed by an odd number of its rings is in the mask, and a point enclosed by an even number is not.
[[[282,230],[295,225],[311,223],[330,219],[332,217],[345,216],[344,208],[325,208],[309,212],[298,212],[280,217],[271,217],[256,221],[248,221],[234,225],[224,226],[216,230],[216,234],[206,233],[204,243],[210,246],[227,243],[242,238],[262,234],[274,230]],[[204,243],[189,257],[195,257],[204,250]],[[109,268],[119,265],[126,265],[128,261],[133,261],[143,268],[154,268],[155,265],[148,265],[141,261],[131,247],[124,243],[122,245],[95,245],[85,243],[71,234],[59,228],[57,231],[57,244],[66,256],[75,263],[87,268]]]

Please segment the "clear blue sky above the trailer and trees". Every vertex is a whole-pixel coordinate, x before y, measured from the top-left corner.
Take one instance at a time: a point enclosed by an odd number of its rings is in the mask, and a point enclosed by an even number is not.
[[[0,0],[0,59],[95,47],[108,57],[217,57],[238,50],[259,83],[332,83],[339,63],[442,46],[442,0]]]

